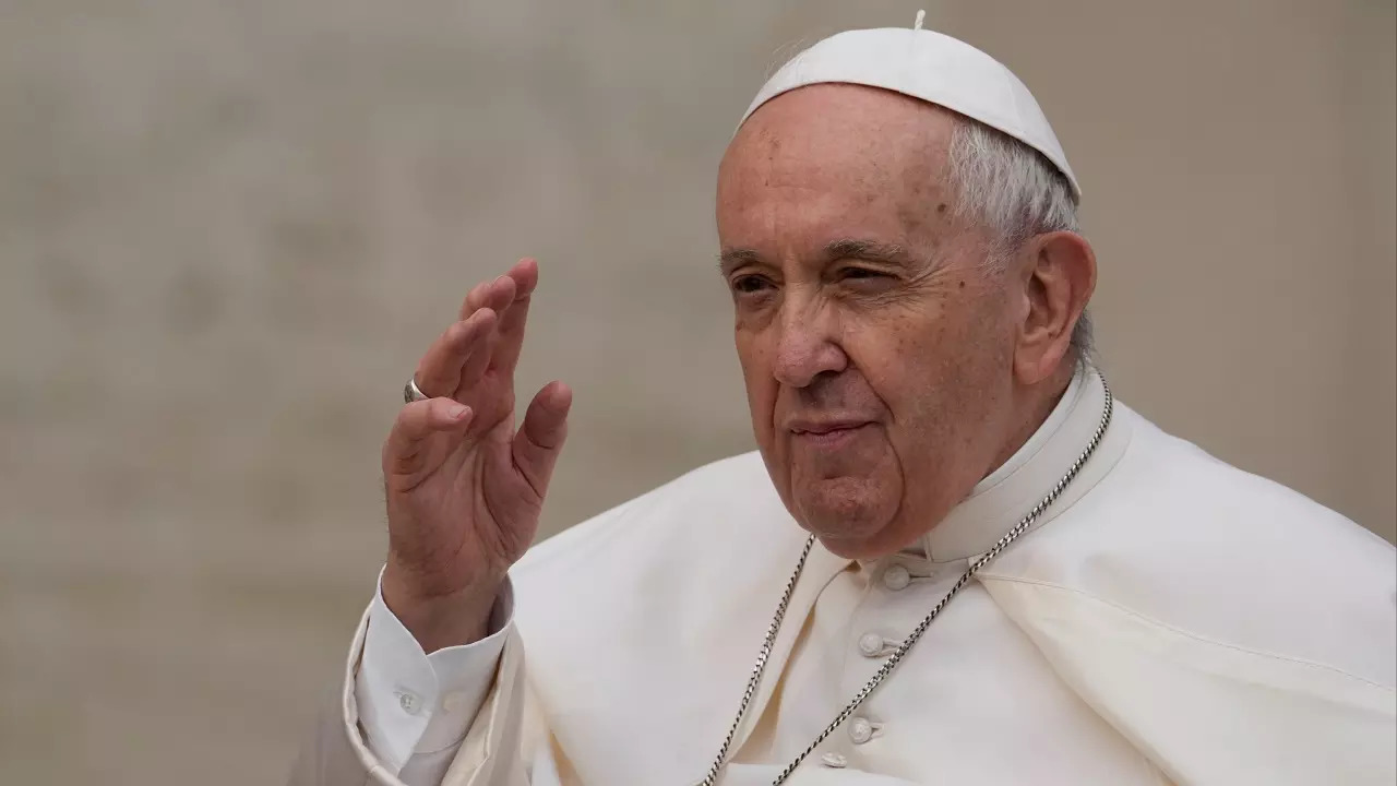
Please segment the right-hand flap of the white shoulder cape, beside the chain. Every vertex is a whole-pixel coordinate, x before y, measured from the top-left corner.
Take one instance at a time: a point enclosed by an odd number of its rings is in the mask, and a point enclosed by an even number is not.
[[[1185,635],[1397,681],[1387,541],[1139,414],[1120,462],[986,571]]]

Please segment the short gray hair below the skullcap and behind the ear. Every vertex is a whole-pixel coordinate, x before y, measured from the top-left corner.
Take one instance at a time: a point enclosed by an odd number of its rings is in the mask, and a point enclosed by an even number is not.
[[[988,227],[990,262],[999,263],[1044,232],[1080,232],[1077,197],[1067,178],[1037,150],[970,117],[957,117],[950,147],[957,215]],[[1091,317],[1084,310],[1071,331],[1078,361],[1092,352]]]

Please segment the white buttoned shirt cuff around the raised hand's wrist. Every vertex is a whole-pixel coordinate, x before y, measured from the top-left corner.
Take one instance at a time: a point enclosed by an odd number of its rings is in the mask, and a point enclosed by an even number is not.
[[[383,576],[369,606],[355,701],[365,741],[408,786],[437,786],[481,710],[513,625],[509,579],[490,613],[490,635],[426,655],[383,601]]]

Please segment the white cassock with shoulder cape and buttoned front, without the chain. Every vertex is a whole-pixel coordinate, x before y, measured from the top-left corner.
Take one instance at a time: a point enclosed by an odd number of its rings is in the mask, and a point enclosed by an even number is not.
[[[721,785],[773,782],[1058,483],[1104,397],[1080,372],[916,547],[814,545]],[[376,600],[339,764],[353,783],[693,783],[805,537],[749,453],[535,547],[483,642],[427,659]],[[1394,587],[1386,541],[1118,403],[1067,491],[788,783],[1390,785]]]

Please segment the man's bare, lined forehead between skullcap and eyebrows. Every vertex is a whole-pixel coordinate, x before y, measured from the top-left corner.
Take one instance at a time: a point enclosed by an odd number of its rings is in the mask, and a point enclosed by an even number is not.
[[[949,199],[953,115],[859,85],[810,85],[780,95],[733,137],[718,172],[725,245],[781,232],[915,242],[936,229]]]

